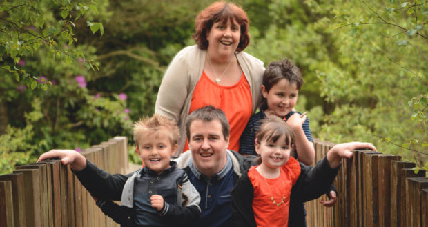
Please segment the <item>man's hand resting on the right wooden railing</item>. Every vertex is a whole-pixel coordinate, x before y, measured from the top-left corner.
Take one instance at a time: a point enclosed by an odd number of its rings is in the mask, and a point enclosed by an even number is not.
[[[371,143],[351,142],[344,144],[336,144],[327,152],[327,161],[331,168],[338,168],[342,163],[343,158],[350,159],[353,155],[353,150],[371,149],[376,150],[376,147]]]

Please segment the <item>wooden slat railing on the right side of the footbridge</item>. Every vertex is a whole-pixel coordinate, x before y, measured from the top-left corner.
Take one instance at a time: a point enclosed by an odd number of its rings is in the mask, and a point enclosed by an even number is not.
[[[334,144],[315,140],[315,160]],[[320,200],[306,203],[308,227],[426,227],[428,226],[428,178],[415,173],[416,165],[397,155],[373,150],[355,151],[343,161],[335,179],[338,199],[333,208]]]

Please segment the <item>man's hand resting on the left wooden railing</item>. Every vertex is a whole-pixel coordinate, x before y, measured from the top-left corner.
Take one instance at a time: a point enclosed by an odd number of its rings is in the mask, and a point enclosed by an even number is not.
[[[86,167],[86,158],[75,150],[50,150],[41,154],[37,162],[53,158],[61,159],[63,165],[69,164],[77,172]]]

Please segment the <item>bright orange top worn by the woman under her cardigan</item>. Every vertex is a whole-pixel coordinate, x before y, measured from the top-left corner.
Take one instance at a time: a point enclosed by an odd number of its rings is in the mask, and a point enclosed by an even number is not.
[[[233,86],[220,86],[212,81],[202,71],[202,77],[197,81],[195,91],[191,100],[191,112],[204,106],[214,106],[220,108],[226,114],[231,126],[229,138],[229,150],[236,152],[240,148],[240,137],[246,123],[253,114],[253,99],[248,81],[242,73],[240,81]],[[188,150],[188,142],[184,146],[184,151]]]

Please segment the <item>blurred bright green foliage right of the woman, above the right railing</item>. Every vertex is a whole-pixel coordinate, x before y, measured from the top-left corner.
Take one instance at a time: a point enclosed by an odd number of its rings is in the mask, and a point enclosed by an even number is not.
[[[309,110],[315,137],[371,141],[424,168],[426,1],[248,2],[257,6],[247,10],[257,28],[246,52],[265,63],[283,57],[297,63],[305,81],[298,104],[304,95],[306,106],[296,108]],[[266,12],[262,18],[259,11]]]

